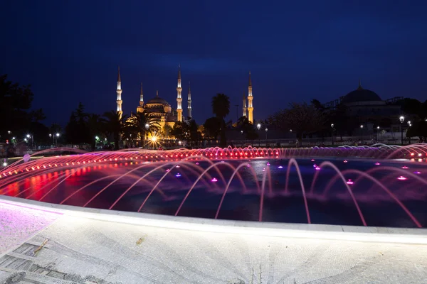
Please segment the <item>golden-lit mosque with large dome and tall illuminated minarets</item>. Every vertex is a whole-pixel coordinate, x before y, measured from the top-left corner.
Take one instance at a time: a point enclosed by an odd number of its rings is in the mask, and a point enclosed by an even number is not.
[[[188,86],[188,97],[187,97],[187,118],[193,119],[191,114],[191,88],[190,82]],[[120,67],[118,68],[117,75],[117,113],[122,116],[122,80],[120,78]],[[186,121],[182,113],[182,87],[181,87],[181,67],[178,65],[178,82],[176,84],[176,109],[169,104],[166,99],[159,97],[159,91],[156,92],[156,97],[149,99],[144,102],[144,94],[141,90],[139,93],[139,106],[137,107],[137,113],[149,113],[157,118],[157,124],[164,129],[164,126],[168,125],[171,128],[174,127],[176,121]],[[246,99],[248,100],[248,107],[246,107]],[[253,104],[252,104],[252,81],[251,72],[249,72],[249,84],[248,84],[248,97],[245,98],[243,95],[243,116],[248,116],[248,120],[253,123]]]

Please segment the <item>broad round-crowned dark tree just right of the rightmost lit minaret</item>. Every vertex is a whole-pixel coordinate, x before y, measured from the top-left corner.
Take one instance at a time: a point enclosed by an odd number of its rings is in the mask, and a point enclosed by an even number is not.
[[[277,111],[268,119],[270,124],[284,133],[290,129],[297,134],[298,141],[302,142],[303,133],[313,133],[322,129],[325,116],[312,104],[291,103],[288,109]]]

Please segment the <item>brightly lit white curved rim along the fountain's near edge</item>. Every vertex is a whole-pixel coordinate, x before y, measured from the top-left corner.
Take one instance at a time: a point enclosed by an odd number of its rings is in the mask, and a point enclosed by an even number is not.
[[[427,229],[337,226],[325,224],[290,224],[174,217],[168,215],[59,205],[5,195],[0,195],[0,206],[1,203],[14,204],[16,206],[39,209],[48,212],[56,212],[67,216],[97,219],[106,222],[157,226],[165,229],[209,231],[223,234],[253,234],[257,236],[278,236],[290,238],[334,239],[342,241],[427,244]]]

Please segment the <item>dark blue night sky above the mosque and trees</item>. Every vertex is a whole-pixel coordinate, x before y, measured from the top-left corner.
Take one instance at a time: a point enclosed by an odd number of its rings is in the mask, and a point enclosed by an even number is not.
[[[41,4],[43,3],[43,4]],[[117,65],[123,110],[145,100],[183,108],[191,80],[193,116],[211,97],[232,106],[253,80],[255,119],[289,102],[328,102],[362,87],[383,99],[427,99],[427,1],[5,1],[0,74],[32,84],[47,124],[65,124],[83,102],[115,109]],[[235,107],[231,119],[236,118]]]

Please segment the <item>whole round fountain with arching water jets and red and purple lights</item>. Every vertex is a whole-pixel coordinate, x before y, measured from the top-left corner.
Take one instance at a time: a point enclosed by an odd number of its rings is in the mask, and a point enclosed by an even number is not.
[[[422,227],[426,158],[427,144],[95,153],[55,148],[6,163],[0,195],[212,219]]]

